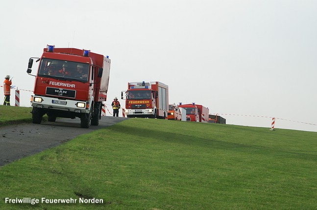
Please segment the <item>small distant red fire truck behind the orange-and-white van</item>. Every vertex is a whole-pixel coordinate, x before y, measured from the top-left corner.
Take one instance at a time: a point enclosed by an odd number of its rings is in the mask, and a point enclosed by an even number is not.
[[[186,109],[186,120],[194,122],[208,123],[209,120],[209,109],[203,105],[185,104],[178,105]]]

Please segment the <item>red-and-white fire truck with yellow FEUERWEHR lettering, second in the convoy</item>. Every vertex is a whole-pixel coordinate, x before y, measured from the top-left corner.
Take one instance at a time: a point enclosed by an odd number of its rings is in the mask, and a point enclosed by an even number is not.
[[[165,119],[169,110],[169,86],[160,82],[132,82],[125,93],[127,117],[148,117]]]

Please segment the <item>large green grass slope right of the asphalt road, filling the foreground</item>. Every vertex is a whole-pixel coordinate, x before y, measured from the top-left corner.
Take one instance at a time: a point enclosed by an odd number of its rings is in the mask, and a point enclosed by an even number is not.
[[[316,174],[317,132],[133,118],[1,167],[0,209],[313,210]]]

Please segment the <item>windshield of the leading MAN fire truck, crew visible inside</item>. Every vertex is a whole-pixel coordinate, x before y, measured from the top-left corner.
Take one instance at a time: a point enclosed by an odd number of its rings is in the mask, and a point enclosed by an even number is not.
[[[87,82],[88,74],[89,64],[87,63],[42,59],[38,76]]]

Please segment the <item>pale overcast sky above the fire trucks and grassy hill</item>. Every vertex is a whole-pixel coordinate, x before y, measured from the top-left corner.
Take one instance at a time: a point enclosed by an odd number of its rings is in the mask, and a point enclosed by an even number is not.
[[[0,75],[33,90],[28,59],[47,44],[89,49],[111,59],[111,112],[128,82],[159,81],[170,104],[204,105],[227,124],[276,117],[275,128],[317,131],[316,11],[316,0],[7,0]]]

